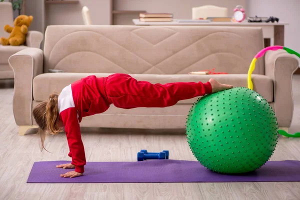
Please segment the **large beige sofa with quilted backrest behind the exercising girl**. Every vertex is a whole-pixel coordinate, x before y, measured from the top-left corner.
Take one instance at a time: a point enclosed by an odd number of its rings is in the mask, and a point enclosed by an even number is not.
[[[26,48],[9,58],[15,86],[13,113],[23,134],[36,125],[31,110],[51,92],[89,74],[128,73],[152,83],[208,81],[215,78],[247,86],[253,56],[263,48],[262,30],[255,27],[52,25],[44,50]],[[291,76],[297,59],[283,50],[268,51],[256,61],[252,81],[274,108],[280,127],[289,127],[293,112]],[[190,75],[215,68],[229,74]],[[48,72],[59,69],[64,72]],[[121,109],[82,119],[81,127],[184,128],[196,98],[165,108]]]

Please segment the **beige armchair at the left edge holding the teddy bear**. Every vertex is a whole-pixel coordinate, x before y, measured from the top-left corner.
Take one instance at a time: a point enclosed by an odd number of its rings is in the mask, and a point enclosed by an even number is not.
[[[34,20],[34,17],[33,17]],[[4,31],[4,25],[13,26],[13,13],[11,2],[0,2],[0,37],[8,37],[9,33]],[[26,35],[24,45],[20,46],[2,46],[0,44],[0,79],[13,78],[13,71],[8,65],[8,58],[28,47],[40,48],[43,40],[43,34],[39,31],[30,30]]]

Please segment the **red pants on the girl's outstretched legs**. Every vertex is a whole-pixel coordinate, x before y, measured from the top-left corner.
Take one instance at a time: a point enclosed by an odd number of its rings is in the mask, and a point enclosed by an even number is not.
[[[179,100],[211,93],[209,82],[172,82],[152,84],[137,81],[128,74],[115,73],[106,78],[105,91],[108,101],[120,108],[166,107]]]

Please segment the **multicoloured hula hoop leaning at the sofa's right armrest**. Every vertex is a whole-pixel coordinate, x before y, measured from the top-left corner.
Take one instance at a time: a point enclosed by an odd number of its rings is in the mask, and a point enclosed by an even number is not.
[[[252,89],[253,90],[253,83],[252,83],[252,80],[251,80],[251,74],[253,72],[253,70],[255,69],[255,62],[256,60],[263,56],[264,53],[268,50],[278,50],[278,49],[283,49],[285,50],[286,52],[290,53],[290,54],[295,54],[296,56],[300,57],[300,54],[297,53],[296,51],[290,49],[290,48],[287,48],[285,46],[278,46],[278,45],[275,45],[275,46],[268,46],[268,47],[265,47],[263,48],[262,50],[260,50],[255,56],[254,58],[252,59],[251,63],[250,63],[250,67],[249,67],[249,70],[248,70],[248,78],[247,78],[247,82],[248,82],[248,88],[249,89]],[[294,134],[290,134],[284,130],[278,130],[278,133],[283,135],[283,136],[286,136],[286,137],[300,137],[300,132],[296,132]]]

